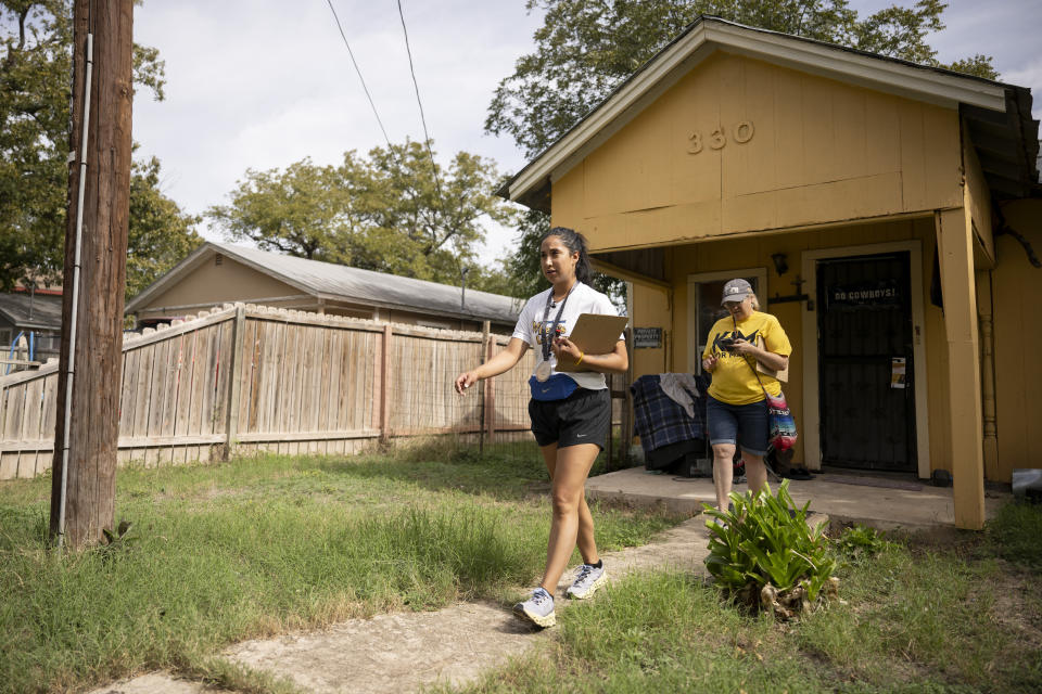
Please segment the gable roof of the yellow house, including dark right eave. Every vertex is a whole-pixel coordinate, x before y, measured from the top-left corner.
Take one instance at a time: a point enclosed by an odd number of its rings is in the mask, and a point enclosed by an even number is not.
[[[1030,89],[701,15],[504,183],[497,194],[548,213],[554,181],[716,50],[958,108],[969,124],[992,190],[1002,196],[1026,197],[1038,188],[1039,121],[1031,117]]]

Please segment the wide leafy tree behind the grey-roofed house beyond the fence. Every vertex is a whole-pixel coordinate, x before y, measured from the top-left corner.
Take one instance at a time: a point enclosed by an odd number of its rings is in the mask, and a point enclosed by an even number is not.
[[[367,157],[346,152],[339,166],[305,158],[247,170],[229,204],[206,215],[229,239],[260,248],[456,284],[461,266],[476,265],[483,218],[513,218],[492,193],[498,178],[493,162],[467,152],[435,167],[422,143],[407,140]]]

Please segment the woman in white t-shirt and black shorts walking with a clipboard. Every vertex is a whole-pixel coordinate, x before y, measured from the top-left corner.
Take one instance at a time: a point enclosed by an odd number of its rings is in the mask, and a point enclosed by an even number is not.
[[[593,270],[582,234],[563,227],[550,229],[539,244],[539,266],[552,286],[529,299],[507,347],[460,374],[455,385],[462,395],[478,381],[512,369],[529,347],[535,349],[529,415],[550,473],[554,515],[543,581],[513,612],[541,627],[551,627],[554,592],[576,543],[583,565],[567,594],[588,597],[607,580],[594,542],[585,484],[610,434],[611,399],[603,374],[625,371],[630,358],[621,338],[607,355],[585,355],[568,339],[581,313],[618,312],[607,296],[589,286]],[[586,371],[559,373],[555,367],[561,359],[577,362]]]

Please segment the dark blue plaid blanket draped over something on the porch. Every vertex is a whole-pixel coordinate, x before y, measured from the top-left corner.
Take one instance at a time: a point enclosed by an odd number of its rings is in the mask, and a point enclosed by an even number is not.
[[[678,441],[704,438],[704,396],[696,398],[691,394],[695,399],[695,419],[691,419],[683,407],[662,391],[657,374],[640,376],[630,386],[630,391],[633,393],[633,433],[640,437],[645,452]]]

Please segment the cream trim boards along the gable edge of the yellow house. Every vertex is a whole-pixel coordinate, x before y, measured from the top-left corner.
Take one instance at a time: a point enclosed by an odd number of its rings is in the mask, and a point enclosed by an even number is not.
[[[1006,110],[1006,88],[997,82],[707,18],[530,162],[509,187],[510,200],[518,201],[546,179],[560,179],[716,49],[949,108],[964,103],[1002,113]]]

